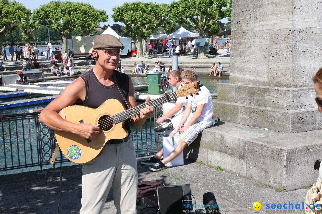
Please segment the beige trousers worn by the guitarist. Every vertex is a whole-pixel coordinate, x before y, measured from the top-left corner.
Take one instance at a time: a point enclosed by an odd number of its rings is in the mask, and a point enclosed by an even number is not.
[[[128,139],[128,140],[127,140]],[[81,214],[100,214],[111,186],[117,214],[136,214],[137,159],[132,139],[107,145],[83,164]]]

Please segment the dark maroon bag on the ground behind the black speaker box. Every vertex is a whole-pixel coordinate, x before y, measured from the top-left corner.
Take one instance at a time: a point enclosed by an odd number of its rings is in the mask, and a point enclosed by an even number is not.
[[[142,181],[137,184],[137,198],[146,197],[156,202],[156,187],[164,186],[162,182]]]

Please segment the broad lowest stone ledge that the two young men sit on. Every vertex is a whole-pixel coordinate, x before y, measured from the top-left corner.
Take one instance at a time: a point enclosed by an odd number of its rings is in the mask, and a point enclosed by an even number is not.
[[[321,159],[321,134],[322,130],[279,133],[219,122],[185,148],[185,157],[273,188],[299,189],[317,179],[313,166]]]

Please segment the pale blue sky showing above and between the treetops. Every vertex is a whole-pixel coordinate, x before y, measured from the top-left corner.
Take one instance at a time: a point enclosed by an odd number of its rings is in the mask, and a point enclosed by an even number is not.
[[[111,14],[113,13],[113,7],[116,6],[120,6],[122,4],[124,4],[125,2],[136,2],[135,0],[71,0],[73,2],[84,2],[87,4],[92,5],[94,8],[96,9],[101,9],[101,10],[105,10],[105,12],[109,15],[109,20],[108,22],[100,22],[99,25],[101,27],[104,26],[104,24],[106,25],[113,25],[116,22],[113,21],[113,19],[110,17]],[[141,0],[142,2],[149,2],[148,0]],[[173,2],[174,0],[154,0],[151,2],[155,2],[157,4],[169,4],[170,2]],[[32,1],[26,1],[26,0],[16,0],[16,2],[19,2],[21,4],[24,4],[28,9],[30,9],[31,11],[33,11],[34,9],[40,7],[40,5],[42,4],[48,4],[50,2],[50,0],[32,0]],[[227,18],[221,20],[221,22],[223,23],[227,23],[228,20]],[[122,25],[123,23],[118,22],[118,24]],[[124,25],[124,24],[123,24]]]

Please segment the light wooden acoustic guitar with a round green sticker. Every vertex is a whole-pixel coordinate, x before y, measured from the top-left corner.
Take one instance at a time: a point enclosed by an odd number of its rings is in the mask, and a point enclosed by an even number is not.
[[[88,140],[69,132],[55,131],[59,148],[66,158],[75,163],[86,163],[99,155],[107,141],[123,139],[128,136],[124,129],[124,121],[140,113],[146,105],[160,106],[178,97],[193,96],[200,90],[200,82],[194,81],[166,96],[151,100],[136,107],[127,109],[117,99],[108,99],[98,108],[85,106],[69,106],[63,108],[59,115],[63,119],[79,124],[99,124],[100,132],[95,140]]]

